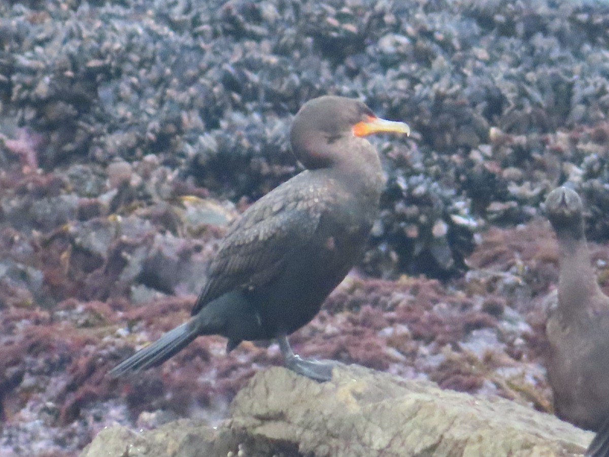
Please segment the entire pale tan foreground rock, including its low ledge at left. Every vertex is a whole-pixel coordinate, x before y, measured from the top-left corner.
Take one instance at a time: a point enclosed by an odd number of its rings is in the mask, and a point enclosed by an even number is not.
[[[264,370],[231,410],[213,429],[188,420],[141,434],[110,428],[81,457],[566,456],[583,455],[593,437],[509,400],[356,365],[337,366],[323,384],[280,367]]]

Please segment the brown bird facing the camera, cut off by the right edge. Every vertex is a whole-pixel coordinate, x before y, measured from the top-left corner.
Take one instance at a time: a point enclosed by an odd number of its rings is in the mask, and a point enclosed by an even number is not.
[[[547,376],[555,414],[581,428],[609,428],[609,297],[596,281],[586,243],[583,203],[559,187],[546,197],[559,247],[558,300],[547,310]],[[598,444],[602,439],[596,440]],[[601,456],[603,453],[589,453]]]

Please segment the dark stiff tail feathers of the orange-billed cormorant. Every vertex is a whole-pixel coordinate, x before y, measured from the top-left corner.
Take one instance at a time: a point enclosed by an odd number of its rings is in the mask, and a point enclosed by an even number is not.
[[[127,372],[146,370],[160,365],[200,335],[197,325],[194,324],[194,319],[191,319],[191,321],[175,327],[174,330],[169,330],[157,341],[119,363],[108,372],[108,375],[118,378]]]

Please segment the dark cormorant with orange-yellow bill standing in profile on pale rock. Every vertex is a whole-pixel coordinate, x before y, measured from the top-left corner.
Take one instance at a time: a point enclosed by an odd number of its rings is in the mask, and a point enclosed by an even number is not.
[[[308,324],[362,255],[385,180],[365,138],[410,135],[357,99],[321,96],[295,115],[289,138],[304,170],[262,196],[233,222],[209,263],[191,318],[110,370],[111,377],[158,366],[200,335],[273,340],[285,366],[328,381],[336,362],[300,358],[287,336]]]

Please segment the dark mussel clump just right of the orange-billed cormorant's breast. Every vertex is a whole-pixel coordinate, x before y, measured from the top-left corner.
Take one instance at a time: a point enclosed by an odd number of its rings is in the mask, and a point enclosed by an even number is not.
[[[372,234],[381,249],[369,251],[365,260],[380,269],[375,275],[408,271],[446,278],[463,271],[477,224],[466,202],[455,197],[424,175],[392,173]]]

